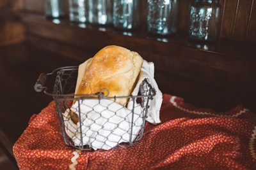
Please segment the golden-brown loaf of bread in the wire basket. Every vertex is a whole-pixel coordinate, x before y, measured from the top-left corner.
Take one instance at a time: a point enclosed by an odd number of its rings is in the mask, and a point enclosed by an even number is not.
[[[106,88],[109,97],[130,96],[143,64],[142,57],[122,46],[110,45],[102,48],[88,62],[76,94],[96,94]],[[116,98],[125,106],[128,98]],[[76,114],[76,113],[72,113]],[[77,115],[71,115],[74,123]]]

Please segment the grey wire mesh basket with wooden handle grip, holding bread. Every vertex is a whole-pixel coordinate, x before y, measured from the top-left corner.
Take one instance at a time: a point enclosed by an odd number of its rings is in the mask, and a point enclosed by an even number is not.
[[[77,66],[60,67],[52,73],[40,74],[35,83],[36,92],[44,90],[56,103],[65,144],[80,150],[109,150],[139,141],[143,136],[148,102],[156,94],[147,79],[140,83],[138,96],[109,97],[108,89],[78,95],[74,94],[77,74]],[[46,83],[52,87],[50,90]],[[116,103],[121,98],[127,99],[127,103]],[[77,122],[72,119],[74,114]]]

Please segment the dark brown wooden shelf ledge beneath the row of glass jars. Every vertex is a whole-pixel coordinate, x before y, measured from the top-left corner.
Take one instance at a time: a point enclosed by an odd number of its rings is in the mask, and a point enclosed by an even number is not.
[[[117,44],[141,53],[179,57],[209,67],[239,72],[245,71],[244,67],[239,66],[250,65],[256,61],[253,56],[256,52],[253,43],[219,40],[215,43],[200,44],[188,41],[186,35],[182,34],[159,38],[148,36],[145,31],[121,32],[113,27],[72,24],[68,20],[47,20],[41,15],[25,16],[24,21],[28,24],[28,32],[31,34],[94,52],[104,45]],[[212,58],[212,55],[215,58]],[[232,65],[229,64],[231,61]]]

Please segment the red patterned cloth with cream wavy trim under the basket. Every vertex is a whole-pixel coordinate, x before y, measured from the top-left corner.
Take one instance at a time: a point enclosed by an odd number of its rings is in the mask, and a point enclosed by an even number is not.
[[[159,125],[129,148],[79,151],[65,145],[55,103],[31,117],[13,146],[22,169],[256,169],[256,114],[196,108],[163,95]]]

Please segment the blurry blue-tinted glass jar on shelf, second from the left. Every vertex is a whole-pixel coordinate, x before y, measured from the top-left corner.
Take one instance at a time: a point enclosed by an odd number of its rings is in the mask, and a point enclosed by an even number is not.
[[[86,22],[85,0],[69,0],[69,19],[72,22]]]

